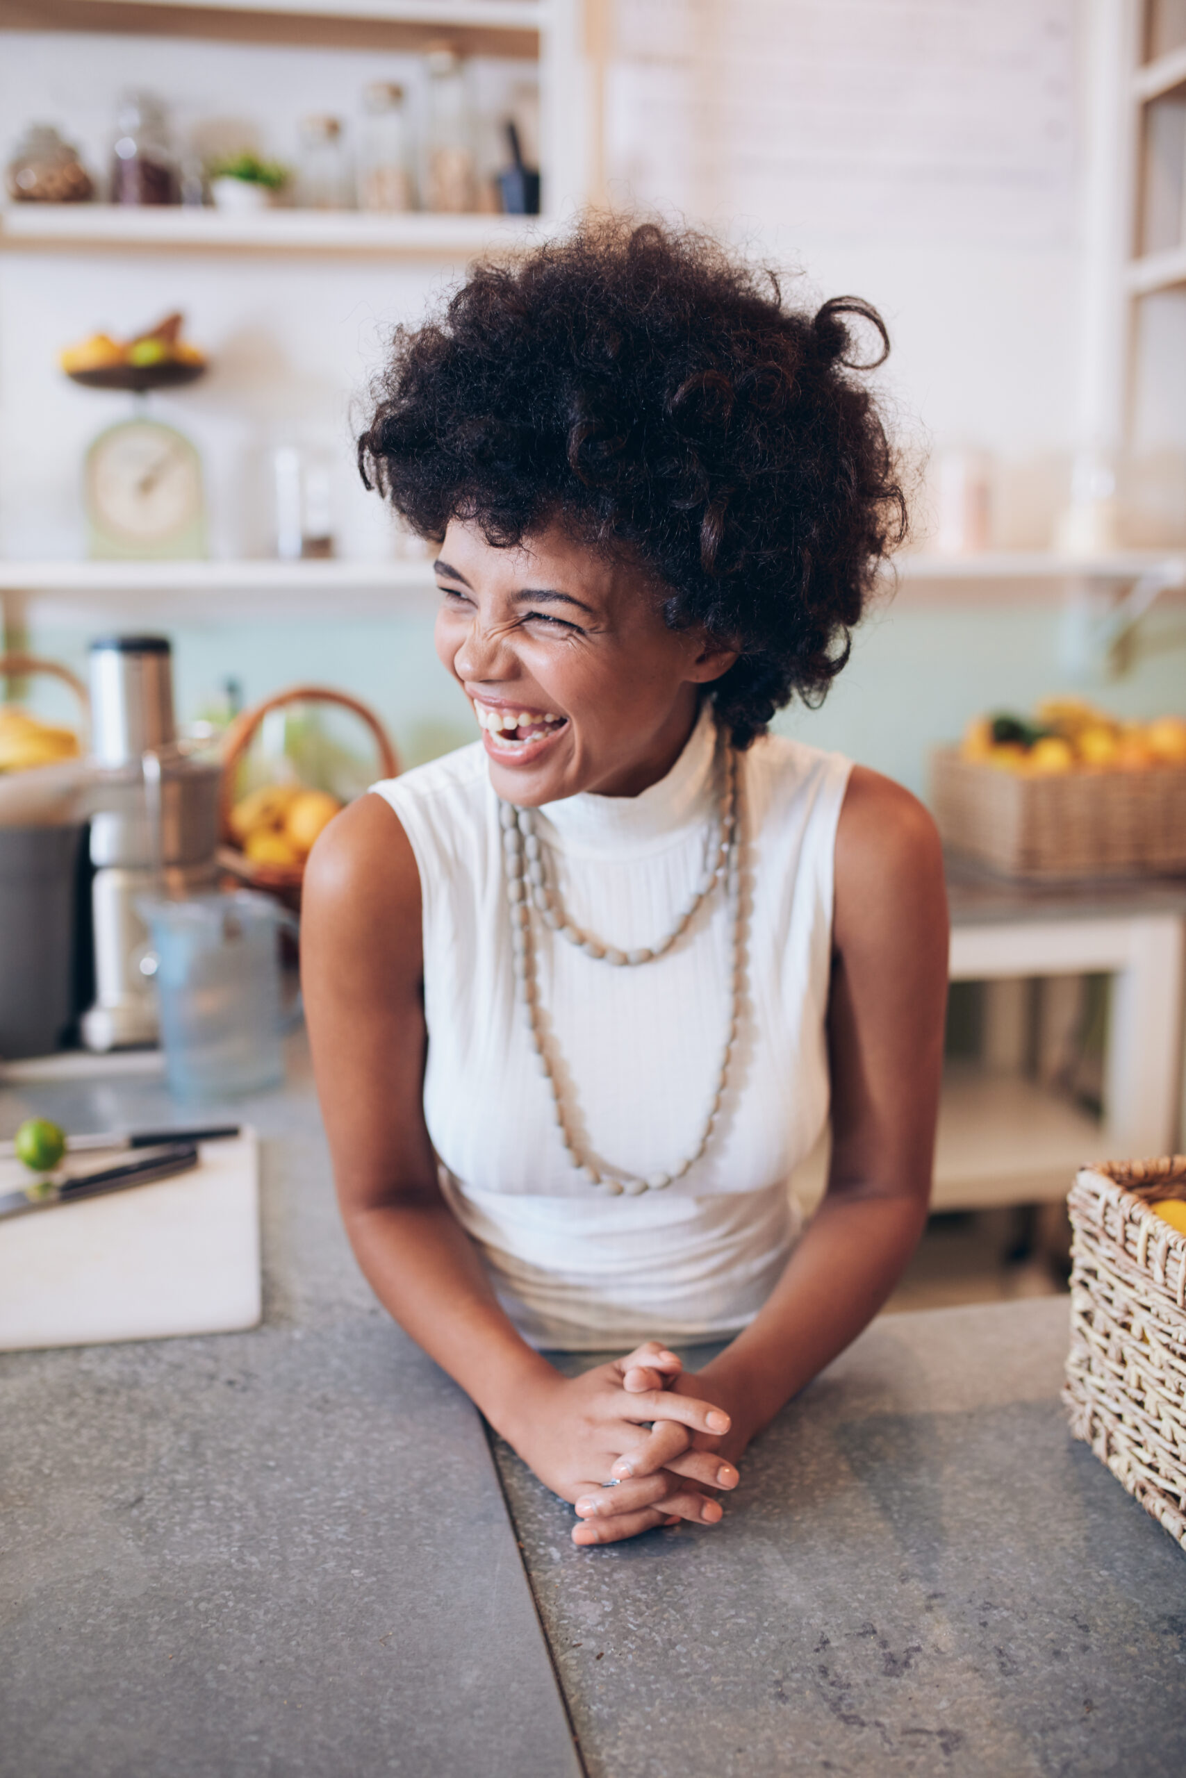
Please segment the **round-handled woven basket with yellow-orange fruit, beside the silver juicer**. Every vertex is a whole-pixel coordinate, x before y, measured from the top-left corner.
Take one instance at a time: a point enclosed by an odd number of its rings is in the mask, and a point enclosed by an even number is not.
[[[247,752],[265,718],[295,704],[329,704],[347,709],[370,731],[379,777],[397,777],[400,766],[395,747],[379,718],[345,692],[329,686],[295,685],[277,692],[254,709],[236,717],[222,743],[222,846],[219,862],[240,882],[281,896],[290,907],[301,905],[304,864],[318,834],[343,807],[333,791],[306,784],[284,761],[284,777],[242,789],[240,777]]]

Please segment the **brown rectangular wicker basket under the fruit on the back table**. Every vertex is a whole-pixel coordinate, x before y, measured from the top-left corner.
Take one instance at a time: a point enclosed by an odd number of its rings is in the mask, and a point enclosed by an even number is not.
[[[1008,877],[1172,877],[1186,871],[1186,766],[1022,777],[932,756],[932,807],[951,852]]]

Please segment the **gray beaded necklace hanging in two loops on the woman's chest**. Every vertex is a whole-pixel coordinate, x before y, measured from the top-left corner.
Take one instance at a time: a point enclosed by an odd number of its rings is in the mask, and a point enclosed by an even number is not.
[[[514,960],[514,978],[516,978],[516,997],[525,1010],[528,1026],[528,1044],[535,1056],[539,1058],[539,1067],[548,1085],[551,1088],[553,1115],[560,1127],[560,1140],[564,1141],[565,1154],[576,1168],[576,1172],[590,1186],[601,1186],[610,1195],[617,1197],[628,1191],[631,1197],[640,1191],[661,1191],[663,1186],[670,1186],[672,1181],[683,1179],[683,1175],[701,1159],[704,1149],[708,1147],[717,1115],[720,1111],[720,1102],[724,1099],[727,1077],[729,1077],[729,1056],[738,1035],[738,999],[741,992],[741,971],[743,971],[743,919],[741,919],[741,871],[740,871],[740,821],[736,805],[736,781],[738,765],[734,750],[724,747],[724,768],[720,772],[720,805],[717,820],[709,829],[709,841],[706,852],[704,871],[695,885],[690,900],[679,909],[676,916],[676,925],[660,939],[658,944],[647,946],[635,951],[621,951],[613,946],[601,944],[597,939],[590,939],[578,926],[573,925],[564,914],[560,905],[560,896],[555,887],[548,885],[548,875],[544,871],[544,855],[535,834],[535,811],[517,809],[510,802],[501,802],[498,805],[498,820],[503,836],[503,869],[507,875],[507,900],[510,903],[510,944]],[[638,967],[642,964],[654,962],[672,948],[676,939],[685,932],[688,921],[699,909],[701,901],[713,893],[718,882],[725,887],[725,907],[729,910],[729,926],[733,935],[733,957],[729,967],[729,1015],[725,1021],[725,1037],[720,1054],[720,1067],[713,1079],[711,1099],[708,1106],[708,1115],[701,1127],[699,1140],[672,1166],[667,1173],[651,1173],[647,1179],[631,1177],[622,1173],[615,1177],[594,1166],[589,1156],[581,1154],[573,1140],[571,1122],[565,1117],[564,1099],[557,1076],[553,1072],[551,1061],[548,1058],[548,1047],[542,1040],[539,1029],[539,985],[535,981],[535,948],[532,942],[532,907],[539,912],[541,919],[553,932],[558,932],[562,939],[569,944],[578,946],[585,957],[594,962],[610,964],[615,967]],[[617,1170],[615,1170],[617,1173]]]

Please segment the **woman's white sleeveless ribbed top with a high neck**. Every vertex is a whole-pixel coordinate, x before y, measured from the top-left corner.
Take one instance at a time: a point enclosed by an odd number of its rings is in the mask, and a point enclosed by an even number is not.
[[[539,811],[548,877],[574,925],[619,949],[670,928],[704,868],[715,727],[640,797]],[[498,798],[480,743],[375,784],[409,837],[423,900],[425,1120],[441,1184],[500,1301],[535,1346],[629,1348],[736,1332],[798,1232],[789,1182],[829,1113],[832,859],[850,763],[775,736],[740,756],[745,985],[708,1149],[663,1191],[576,1177],[514,997]],[[683,937],[612,969],[533,921],[542,1029],[578,1147],[658,1173],[702,1129],[727,1015],[717,889]]]

